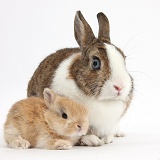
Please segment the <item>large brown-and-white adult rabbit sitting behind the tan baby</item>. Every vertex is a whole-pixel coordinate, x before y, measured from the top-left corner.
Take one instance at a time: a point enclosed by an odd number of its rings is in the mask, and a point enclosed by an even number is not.
[[[49,87],[89,110],[90,131],[82,138],[85,145],[110,143],[122,136],[118,123],[133,96],[133,79],[125,65],[124,53],[110,41],[108,18],[97,14],[96,38],[80,11],[74,21],[75,39],[80,48],[66,48],[46,57],[34,72],[28,96],[43,97]]]

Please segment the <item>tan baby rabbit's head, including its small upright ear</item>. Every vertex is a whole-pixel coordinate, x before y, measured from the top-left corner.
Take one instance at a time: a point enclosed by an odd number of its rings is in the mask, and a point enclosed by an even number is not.
[[[82,136],[87,133],[87,109],[65,97],[60,97],[52,90],[44,89],[44,100],[48,107],[45,120],[53,132],[68,137]]]

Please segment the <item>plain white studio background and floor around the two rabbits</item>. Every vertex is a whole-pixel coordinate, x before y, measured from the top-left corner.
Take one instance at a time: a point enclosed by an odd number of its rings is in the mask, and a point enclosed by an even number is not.
[[[26,97],[28,81],[47,55],[78,46],[73,30],[77,10],[96,36],[96,14],[104,12],[112,43],[127,56],[127,68],[135,81],[135,97],[121,123],[127,137],[102,147],[70,151],[9,149],[3,140],[7,112]],[[159,0],[0,0],[0,159],[160,160],[159,68]]]

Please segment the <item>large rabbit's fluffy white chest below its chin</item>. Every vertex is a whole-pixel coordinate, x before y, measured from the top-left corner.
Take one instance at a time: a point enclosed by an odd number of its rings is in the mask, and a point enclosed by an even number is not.
[[[104,137],[116,132],[116,127],[125,110],[125,104],[120,100],[105,102],[94,101],[88,105],[90,125],[94,133]]]

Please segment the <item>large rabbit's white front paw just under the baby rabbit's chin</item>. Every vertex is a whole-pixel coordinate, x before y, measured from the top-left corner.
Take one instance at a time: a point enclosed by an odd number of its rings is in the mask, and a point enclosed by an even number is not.
[[[81,145],[85,146],[101,146],[102,141],[96,135],[86,135],[81,139]]]

